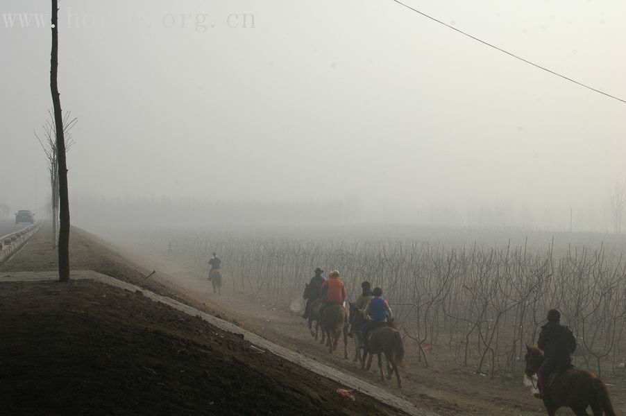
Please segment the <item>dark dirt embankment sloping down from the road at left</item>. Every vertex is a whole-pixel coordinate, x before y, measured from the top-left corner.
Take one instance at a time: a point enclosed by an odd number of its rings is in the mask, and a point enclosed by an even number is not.
[[[35,236],[0,272],[53,268],[46,240]],[[167,290],[86,234],[72,241],[73,267]],[[93,281],[0,284],[0,334],[1,415],[397,414],[339,397],[338,383],[199,318]]]

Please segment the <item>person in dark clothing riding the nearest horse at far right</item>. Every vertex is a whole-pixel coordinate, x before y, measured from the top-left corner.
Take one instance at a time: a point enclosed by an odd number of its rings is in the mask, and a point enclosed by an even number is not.
[[[541,327],[537,347],[543,350],[545,361],[537,372],[539,394],[535,397],[543,399],[550,374],[572,367],[571,354],[576,350],[576,338],[568,327],[561,325],[561,313],[556,309],[548,311],[548,323]]]

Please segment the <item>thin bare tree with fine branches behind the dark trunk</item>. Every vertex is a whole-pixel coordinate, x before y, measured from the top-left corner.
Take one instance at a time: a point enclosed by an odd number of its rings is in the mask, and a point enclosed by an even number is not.
[[[65,132],[65,150],[69,150],[74,144],[74,140],[71,138],[71,128],[76,125],[78,119],[71,119],[71,112],[66,112],[63,115],[63,131]],[[39,137],[35,131],[35,137],[42,146],[46,155],[46,161],[48,164],[48,175],[50,181],[51,191],[51,214],[52,214],[52,247],[56,248],[56,236],[57,236],[57,219],[58,219],[58,207],[59,207],[59,164],[57,158],[56,148],[56,126],[54,124],[54,116],[50,110],[48,110],[48,118],[46,123],[42,125],[43,137]]]

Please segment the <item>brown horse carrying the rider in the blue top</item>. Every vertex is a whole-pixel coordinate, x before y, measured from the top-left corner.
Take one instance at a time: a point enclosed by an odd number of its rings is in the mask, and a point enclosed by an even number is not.
[[[384,381],[384,371],[382,370],[382,357],[384,354],[387,358],[387,379],[391,379],[391,376],[396,373],[396,381],[398,381],[398,388],[402,388],[402,378],[400,372],[398,372],[398,366],[402,367],[403,359],[405,356],[405,347],[402,342],[402,337],[397,329],[392,327],[376,328],[369,331],[367,334],[367,344],[363,352],[363,360],[361,361],[362,370],[369,370],[372,365],[373,354],[378,356],[378,368],[380,370],[380,380]],[[369,360],[367,361],[367,367],[365,366],[365,360],[369,354]]]

